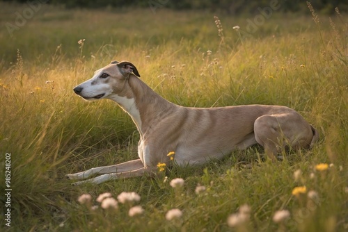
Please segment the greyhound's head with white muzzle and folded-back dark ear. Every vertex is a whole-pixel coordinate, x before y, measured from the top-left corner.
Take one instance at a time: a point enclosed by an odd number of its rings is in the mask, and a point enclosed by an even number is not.
[[[125,88],[129,75],[140,77],[136,67],[128,61],[112,61],[109,65],[95,71],[92,78],[77,85],[74,92],[86,100],[108,98],[120,94]]]

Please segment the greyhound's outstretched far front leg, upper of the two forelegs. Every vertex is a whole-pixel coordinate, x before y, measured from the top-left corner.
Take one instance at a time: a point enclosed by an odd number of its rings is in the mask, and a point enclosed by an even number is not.
[[[84,172],[77,172],[74,174],[68,174],[68,178],[71,180],[85,179],[93,174],[108,174],[116,172],[129,172],[136,169],[141,169],[144,167],[140,159],[131,160],[125,163],[120,163],[118,165],[110,165],[104,167],[93,167]]]

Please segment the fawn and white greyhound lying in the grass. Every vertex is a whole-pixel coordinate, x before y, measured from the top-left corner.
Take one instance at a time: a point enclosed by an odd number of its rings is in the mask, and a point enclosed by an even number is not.
[[[319,139],[313,126],[285,106],[177,106],[141,81],[138,70],[128,61],[112,61],[77,85],[74,92],[86,100],[116,101],[140,133],[139,159],[68,174],[74,180],[102,174],[74,185],[154,174],[157,164],[173,164],[167,156],[171,151],[177,165],[202,165],[253,144],[260,144],[274,159],[285,147],[310,148]]]

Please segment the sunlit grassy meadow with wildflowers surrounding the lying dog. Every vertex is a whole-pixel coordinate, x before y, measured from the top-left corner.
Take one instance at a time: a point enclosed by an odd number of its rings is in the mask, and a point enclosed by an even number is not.
[[[257,15],[45,5],[9,32],[26,8],[0,2],[0,183],[12,189],[10,207],[0,197],[1,231],[348,230],[347,15],[274,12],[251,33]],[[65,174],[137,157],[132,119],[72,91],[111,60],[134,63],[182,106],[289,106],[321,138],[276,163],[256,146],[154,178],[72,186]],[[184,184],[173,188],[176,178]],[[104,192],[141,199],[105,209],[96,201]],[[143,212],[129,216],[132,206]],[[166,219],[173,208],[182,215]],[[279,210],[290,215],[274,219]]]

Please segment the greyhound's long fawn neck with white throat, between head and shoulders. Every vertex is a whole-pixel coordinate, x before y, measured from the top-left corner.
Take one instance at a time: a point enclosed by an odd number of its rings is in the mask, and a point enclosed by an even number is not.
[[[175,110],[176,105],[159,96],[133,74],[129,75],[122,95],[113,94],[111,100],[133,119],[141,137]]]

